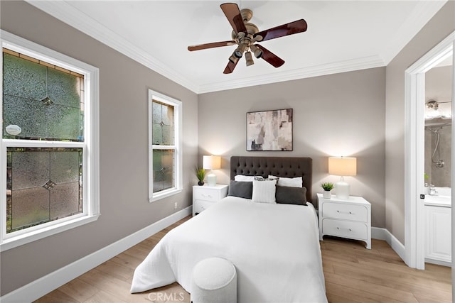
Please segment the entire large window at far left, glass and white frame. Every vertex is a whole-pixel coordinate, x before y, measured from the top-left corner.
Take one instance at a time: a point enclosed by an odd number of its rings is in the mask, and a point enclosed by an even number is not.
[[[97,219],[95,67],[2,36],[1,250]]]

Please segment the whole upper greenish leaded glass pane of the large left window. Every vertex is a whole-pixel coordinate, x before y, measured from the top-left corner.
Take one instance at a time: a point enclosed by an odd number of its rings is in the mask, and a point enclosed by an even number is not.
[[[4,138],[83,140],[83,79],[20,57],[4,58]],[[7,126],[21,132],[7,133]]]

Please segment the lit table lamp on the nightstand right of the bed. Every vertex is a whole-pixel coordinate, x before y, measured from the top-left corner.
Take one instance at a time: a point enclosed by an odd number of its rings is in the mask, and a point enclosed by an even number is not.
[[[345,182],[345,176],[357,174],[357,158],[330,157],[328,158],[328,173],[341,176],[340,181],[335,184],[336,197],[338,199],[349,198],[349,184]]]

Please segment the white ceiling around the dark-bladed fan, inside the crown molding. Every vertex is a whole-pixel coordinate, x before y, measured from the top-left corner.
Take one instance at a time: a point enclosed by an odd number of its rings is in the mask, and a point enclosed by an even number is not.
[[[36,1],[70,26],[198,94],[387,65],[444,1],[234,1],[251,9],[259,31],[304,18],[305,33],[267,40],[284,65],[242,58],[223,74],[235,46],[189,52],[230,40],[225,1]]]

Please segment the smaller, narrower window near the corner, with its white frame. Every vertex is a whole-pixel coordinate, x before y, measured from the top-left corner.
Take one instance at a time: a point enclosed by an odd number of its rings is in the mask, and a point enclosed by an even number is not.
[[[181,101],[149,90],[149,201],[182,190]]]

